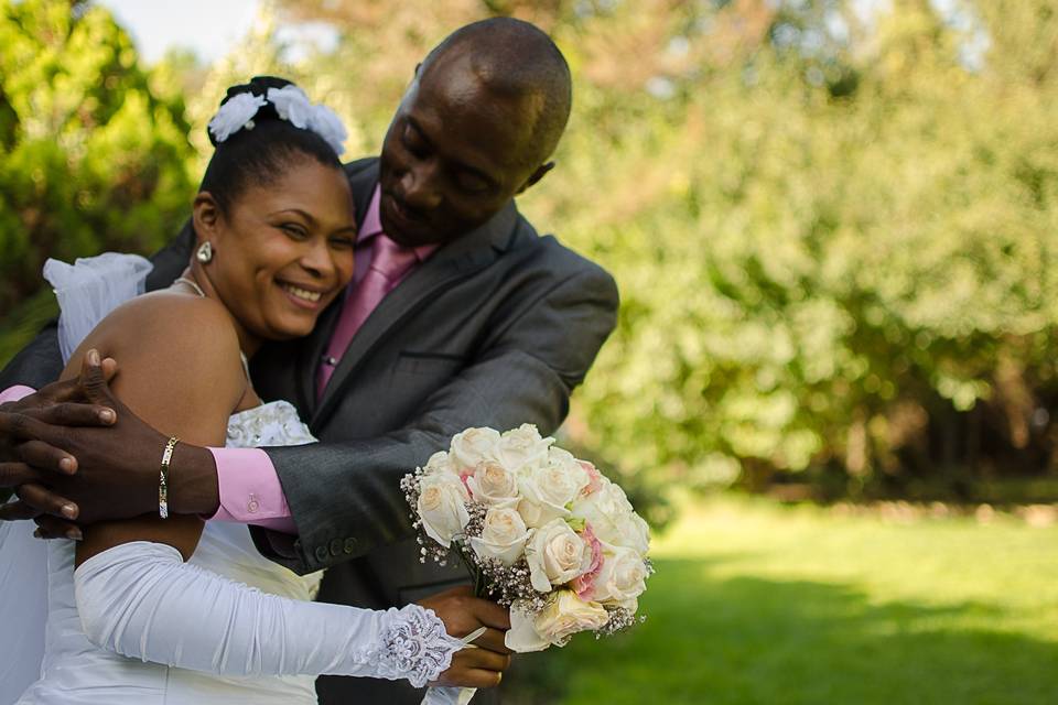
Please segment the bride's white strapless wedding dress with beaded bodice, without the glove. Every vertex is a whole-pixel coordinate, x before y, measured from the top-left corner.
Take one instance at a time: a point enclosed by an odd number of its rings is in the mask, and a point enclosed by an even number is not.
[[[229,447],[301,445],[314,438],[284,401],[235,414]],[[311,675],[225,677],[127,659],[93,646],[74,599],[74,542],[50,541],[48,612],[42,677],[19,705],[199,705],[228,703],[315,703]],[[260,589],[309,600],[322,573],[298,576],[262,557],[242,524],[206,522],[190,563]],[[195,619],[195,615],[187,615]]]

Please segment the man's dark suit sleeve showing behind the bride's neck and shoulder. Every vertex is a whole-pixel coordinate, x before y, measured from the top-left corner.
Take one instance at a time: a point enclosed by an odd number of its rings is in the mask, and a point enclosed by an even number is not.
[[[165,248],[151,256],[154,269],[147,278],[149,291],[169,286],[187,265],[194,231],[188,220],[180,235]],[[22,348],[0,372],[0,389],[24,384],[40,389],[58,379],[63,372],[63,356],[58,350],[58,321],[52,321]]]

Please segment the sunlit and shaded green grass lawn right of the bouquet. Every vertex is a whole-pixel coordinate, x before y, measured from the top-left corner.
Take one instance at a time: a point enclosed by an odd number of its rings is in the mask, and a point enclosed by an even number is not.
[[[651,553],[647,622],[520,657],[505,702],[1058,703],[1058,527],[725,497]]]

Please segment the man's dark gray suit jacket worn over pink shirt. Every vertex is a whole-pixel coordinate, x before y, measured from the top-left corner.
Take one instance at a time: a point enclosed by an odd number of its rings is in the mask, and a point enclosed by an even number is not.
[[[378,181],[377,159],[346,166],[358,217]],[[168,285],[191,256],[190,224],[154,257],[149,286]],[[601,268],[540,237],[514,202],[439,249],[390,292],[353,338],[323,398],[315,372],[339,306],[307,338],[268,344],[251,371],[266,400],[293,402],[321,443],[268,448],[298,538],[253,529],[258,547],[298,572],[331,568],[320,598],[386,608],[466,581],[419,563],[404,473],[468,426],[535,423],[553,432],[613,330],[617,290]],[[0,375],[40,387],[61,368],[54,329]],[[410,686],[321,679],[325,703],[418,703]]]

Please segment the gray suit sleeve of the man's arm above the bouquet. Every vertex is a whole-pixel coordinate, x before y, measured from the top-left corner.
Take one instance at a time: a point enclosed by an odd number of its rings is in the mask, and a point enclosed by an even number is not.
[[[255,529],[258,547],[309,572],[409,538],[400,478],[469,426],[535,423],[553,432],[614,329],[617,304],[609,274],[594,265],[582,270],[493,326],[473,362],[404,427],[365,441],[268,448],[299,538]]]

